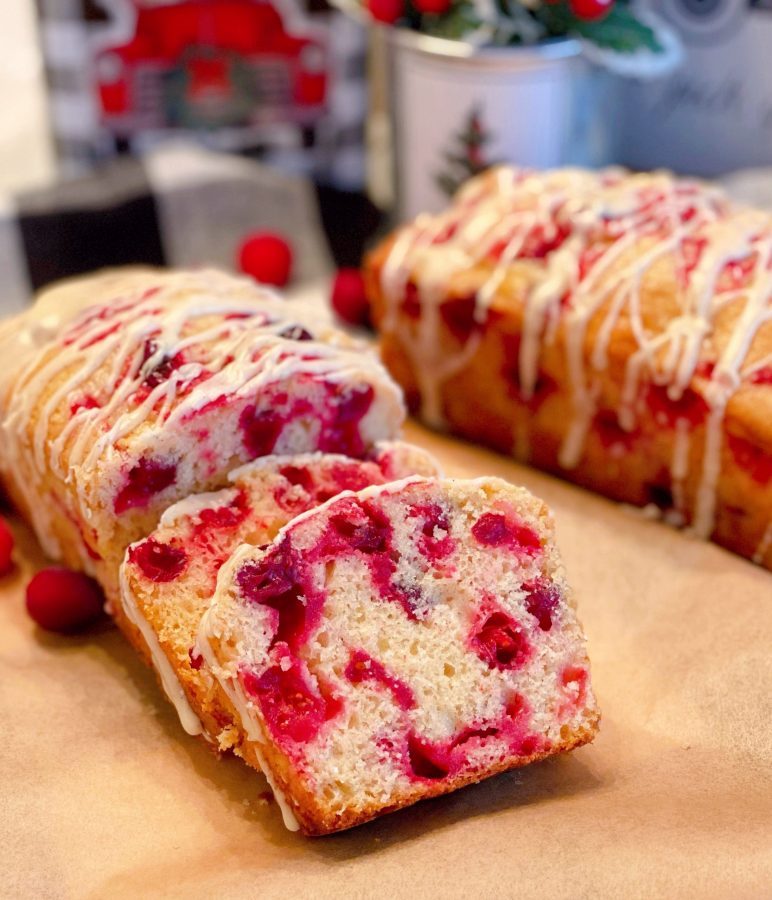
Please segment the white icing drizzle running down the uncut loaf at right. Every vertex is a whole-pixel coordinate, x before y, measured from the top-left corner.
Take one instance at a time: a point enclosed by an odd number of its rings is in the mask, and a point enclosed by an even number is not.
[[[539,241],[542,250],[534,259],[533,245]],[[680,267],[677,310],[661,321],[656,310],[644,308],[641,285],[673,257]],[[726,289],[722,278],[735,263],[744,281]],[[480,333],[473,332],[452,359],[438,359],[447,286],[459,272],[478,285],[475,317],[484,327],[492,306],[506,308],[506,279],[517,271],[529,285],[520,329],[521,396],[524,401],[533,397],[542,349],[562,338],[573,415],[559,462],[571,469],[582,458],[597,412],[600,376],[609,365],[616,329],[628,325],[635,342],[617,408],[620,427],[632,431],[641,385],[659,386],[678,402],[700,363],[715,353],[718,316],[742,304],[701,390],[709,411],[691,529],[709,537],[727,406],[744,380],[772,362],[770,355],[749,359],[759,329],[772,320],[771,270],[769,217],[731,205],[717,188],[663,172],[533,173],[501,167],[469,182],[448,211],[422,216],[399,233],[383,268],[387,314],[382,329],[388,334],[400,328],[400,343],[421,390],[422,415],[430,424],[442,424],[442,384],[477,352],[480,340]],[[420,299],[415,328],[398,326],[399,307],[411,282]],[[689,427],[684,419],[675,422],[671,474],[678,511],[688,476]],[[513,442],[522,452],[516,434]]]

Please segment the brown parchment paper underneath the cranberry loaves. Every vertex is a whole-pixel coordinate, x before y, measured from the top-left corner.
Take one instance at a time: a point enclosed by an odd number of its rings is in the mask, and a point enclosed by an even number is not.
[[[448,474],[552,506],[603,710],[595,744],[341,835],[284,831],[262,776],[187,737],[107,626],[31,624],[0,582],[3,897],[770,897],[772,575],[411,426]]]

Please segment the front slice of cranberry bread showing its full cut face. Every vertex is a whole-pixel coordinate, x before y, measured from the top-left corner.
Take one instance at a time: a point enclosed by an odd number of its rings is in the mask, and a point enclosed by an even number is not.
[[[552,518],[499,479],[342,494],[220,570],[198,636],[290,827],[325,834],[592,740]]]

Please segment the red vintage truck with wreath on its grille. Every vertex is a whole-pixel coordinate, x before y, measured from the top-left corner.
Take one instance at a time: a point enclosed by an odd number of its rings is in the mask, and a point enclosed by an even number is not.
[[[266,0],[133,6],[133,34],[95,57],[103,122],[117,138],[279,123],[308,128],[324,112],[324,38],[289,33]]]

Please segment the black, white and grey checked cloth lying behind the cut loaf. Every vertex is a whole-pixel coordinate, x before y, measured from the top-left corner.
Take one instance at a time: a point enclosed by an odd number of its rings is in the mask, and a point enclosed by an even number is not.
[[[361,194],[190,145],[121,157],[80,178],[0,197],[0,316],[45,285],[106,266],[234,268],[252,231],[285,235],[293,285],[356,265],[379,217]]]

